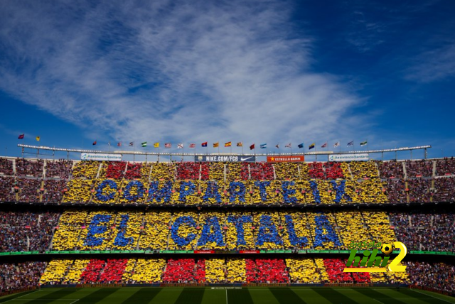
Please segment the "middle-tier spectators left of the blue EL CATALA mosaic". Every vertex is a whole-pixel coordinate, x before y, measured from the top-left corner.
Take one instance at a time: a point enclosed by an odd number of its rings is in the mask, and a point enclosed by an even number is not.
[[[59,216],[56,212],[0,211],[0,252],[48,250]]]

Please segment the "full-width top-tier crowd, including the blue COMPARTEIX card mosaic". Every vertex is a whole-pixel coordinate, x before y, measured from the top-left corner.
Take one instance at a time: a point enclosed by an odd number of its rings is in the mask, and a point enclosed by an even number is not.
[[[4,167],[12,164],[0,158]],[[0,162],[0,165],[1,165]],[[127,163],[18,158],[20,177],[0,176],[0,200],[95,204],[287,205],[446,202],[454,180],[430,179],[434,161],[350,163]],[[440,172],[452,159],[438,160]],[[439,166],[439,167],[438,167]],[[1,167],[0,167],[1,168]],[[420,174],[422,173],[422,174]],[[25,176],[27,175],[27,176]],[[442,175],[442,174],[440,174]],[[68,176],[73,176],[65,183]],[[417,177],[416,177],[417,176]],[[380,178],[382,178],[382,181]],[[44,183],[43,183],[44,182]],[[17,194],[17,197],[16,197]]]

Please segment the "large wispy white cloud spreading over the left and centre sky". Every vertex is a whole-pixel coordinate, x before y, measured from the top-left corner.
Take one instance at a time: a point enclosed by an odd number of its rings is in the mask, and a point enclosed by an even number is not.
[[[0,5],[1,89],[124,141],[360,132],[359,117],[343,119],[358,99],[311,71],[311,37],[294,37],[289,3],[80,3]]]

